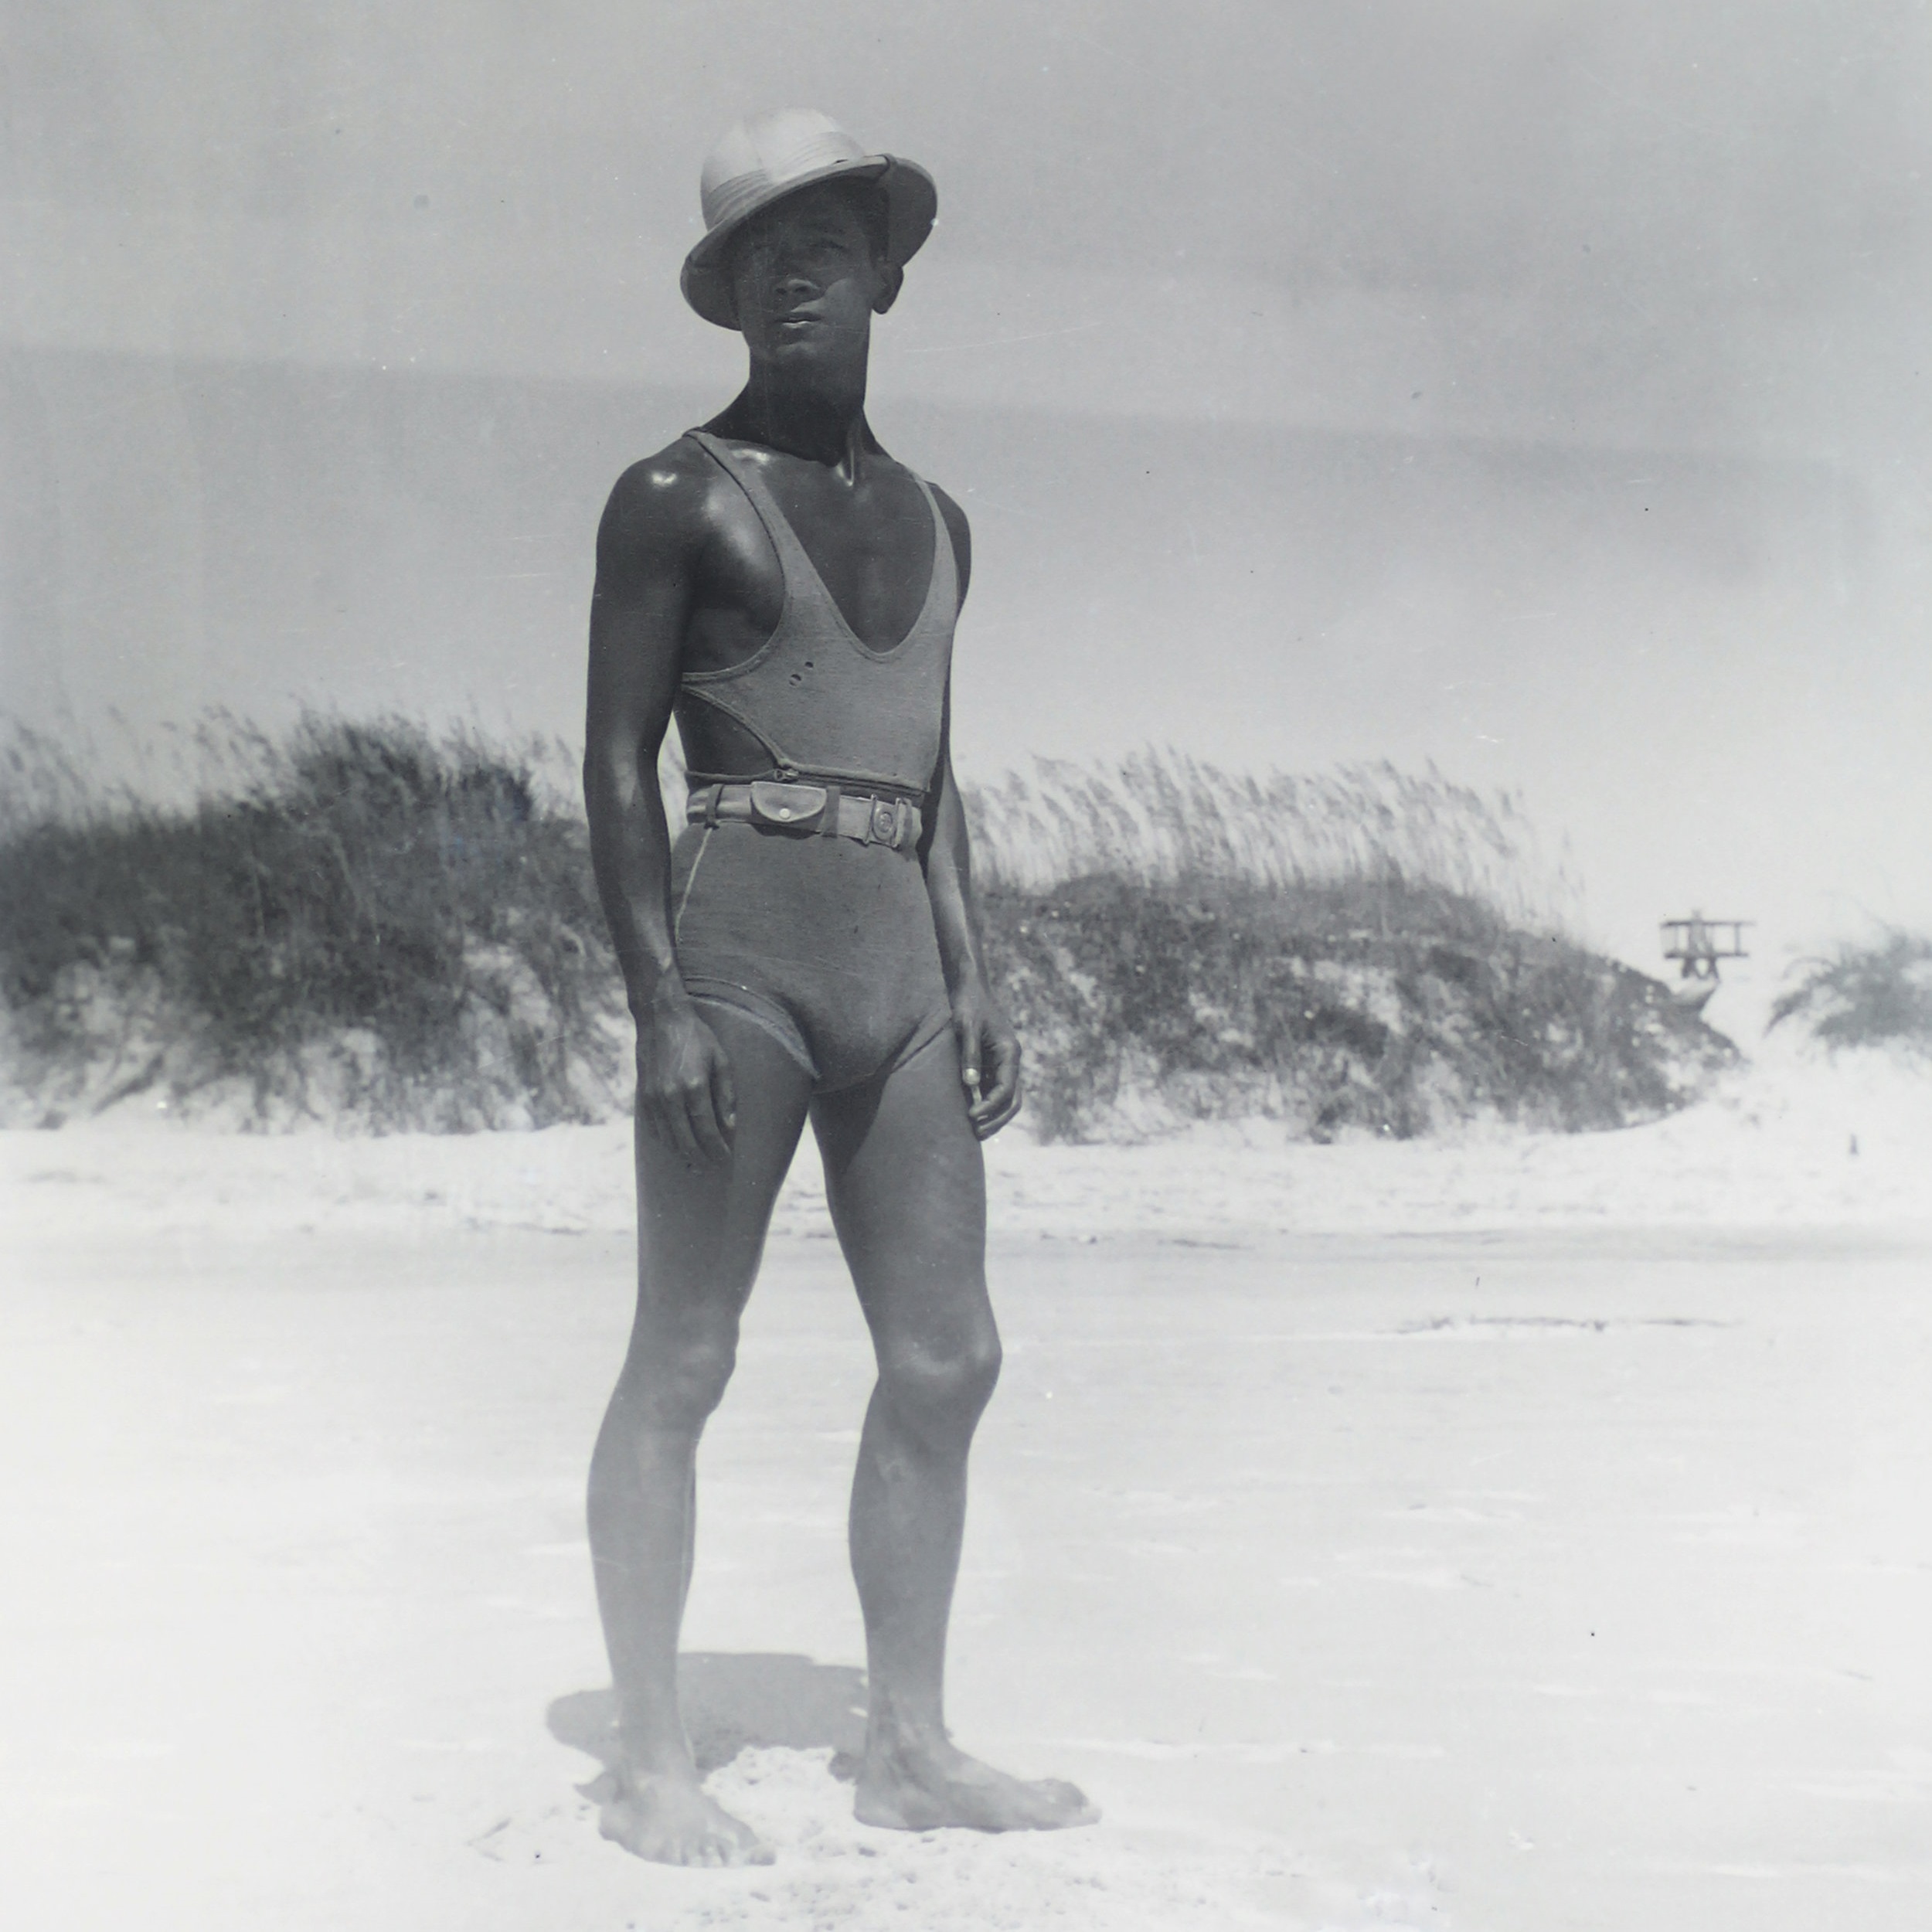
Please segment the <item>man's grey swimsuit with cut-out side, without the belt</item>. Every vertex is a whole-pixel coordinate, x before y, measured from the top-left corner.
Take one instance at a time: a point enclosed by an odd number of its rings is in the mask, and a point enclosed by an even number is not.
[[[925,603],[904,639],[873,651],[757,466],[701,429],[688,435],[757,512],[784,572],[784,609],[752,657],[684,674],[680,719],[699,703],[732,719],[771,755],[771,779],[929,800],[958,614],[952,539],[933,493],[916,479],[933,524]],[[910,842],[690,823],[672,848],[670,912],[692,999],[763,1028],[813,1092],[879,1080],[949,1030],[933,910]]]

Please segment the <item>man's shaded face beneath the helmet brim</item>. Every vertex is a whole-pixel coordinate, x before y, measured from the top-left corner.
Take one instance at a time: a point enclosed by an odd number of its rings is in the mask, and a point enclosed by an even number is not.
[[[844,361],[864,350],[873,311],[898,294],[877,261],[850,193],[833,185],[786,195],[746,222],[732,247],[738,330],[755,361]]]

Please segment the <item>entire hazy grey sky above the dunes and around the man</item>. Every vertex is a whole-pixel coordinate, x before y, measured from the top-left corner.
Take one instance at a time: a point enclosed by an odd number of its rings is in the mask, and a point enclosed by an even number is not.
[[[813,104],[939,180],[875,419],[976,518],[976,767],[1435,757],[1524,786],[1633,954],[1690,895],[1789,939],[1932,920],[1924,6],[10,0],[0,48],[25,715],[570,730],[595,498],[740,369],[676,296],[697,164]],[[541,551],[522,630],[301,616],[296,670],[222,641],[263,593],[211,506],[263,452],[189,394],[216,363],[336,373],[344,421],[398,373],[638,402],[541,500],[527,462],[520,504],[466,483]],[[371,437],[408,527],[435,485]],[[354,578],[363,471],[317,450],[274,527]],[[419,632],[462,603],[460,545],[384,568]]]

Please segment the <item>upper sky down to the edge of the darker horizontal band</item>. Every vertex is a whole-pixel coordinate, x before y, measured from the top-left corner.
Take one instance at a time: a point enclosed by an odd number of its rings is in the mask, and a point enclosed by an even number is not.
[[[23,278],[62,340],[728,377],[665,270],[790,100],[941,182],[895,388],[1835,452],[1932,294],[1915,4],[10,14],[8,195],[120,242]]]

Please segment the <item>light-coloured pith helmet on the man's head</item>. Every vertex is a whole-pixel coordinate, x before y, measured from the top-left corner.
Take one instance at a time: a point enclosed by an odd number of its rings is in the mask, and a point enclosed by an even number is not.
[[[885,195],[885,253],[904,267],[933,230],[939,189],[912,160],[867,155],[827,114],[781,108],[736,128],[705,156],[699,201],[705,238],[684,257],[684,299],[719,328],[736,328],[724,257],[730,238],[759,209],[813,182],[877,182]]]

